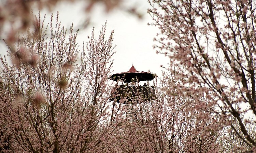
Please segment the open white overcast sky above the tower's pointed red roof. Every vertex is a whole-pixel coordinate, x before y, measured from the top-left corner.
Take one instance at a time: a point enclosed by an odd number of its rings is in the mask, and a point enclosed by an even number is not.
[[[87,36],[91,35],[93,27],[95,27],[95,37],[98,37],[101,26],[106,20],[106,37],[110,35],[111,30],[115,30],[113,44],[116,45],[116,54],[114,55],[113,73],[128,71],[133,64],[137,71],[150,70],[160,77],[162,70],[160,65],[167,65],[169,59],[156,54],[152,48],[153,38],[158,32],[158,28],[147,25],[148,22],[152,21],[150,15],[146,14],[150,5],[146,0],[130,0],[128,5],[136,5],[138,12],[143,14],[143,19],[120,9],[106,13],[104,7],[98,4],[88,15],[84,12],[85,5],[81,1],[60,3],[58,7],[52,10],[52,13],[56,17],[56,12],[59,11],[59,20],[66,28],[69,28],[72,22],[77,28],[84,19],[90,17],[87,28],[80,29],[78,33],[77,43],[80,47],[82,47],[83,41],[88,40]],[[34,14],[36,14],[35,11]],[[46,19],[49,20],[50,12],[42,11],[42,14],[46,14]],[[6,50],[7,48],[0,42],[0,54],[5,54]]]

